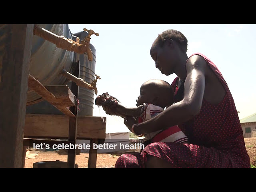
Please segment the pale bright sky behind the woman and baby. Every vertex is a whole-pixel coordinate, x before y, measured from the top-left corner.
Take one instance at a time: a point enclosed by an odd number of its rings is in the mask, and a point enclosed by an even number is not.
[[[158,34],[175,29],[188,40],[187,55],[200,52],[219,68],[234,98],[240,119],[256,113],[256,24],[68,24],[72,33],[92,29],[96,48],[98,94],[108,92],[132,107],[140,86],[150,79],[172,83],[155,68],[150,48]],[[94,97],[96,98],[96,96]],[[106,116],[106,133],[129,132],[118,116],[107,115],[94,105],[93,116]]]

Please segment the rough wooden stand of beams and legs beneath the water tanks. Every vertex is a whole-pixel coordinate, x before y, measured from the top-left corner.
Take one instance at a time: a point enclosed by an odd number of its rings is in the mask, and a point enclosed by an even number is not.
[[[80,64],[77,64],[74,75],[79,76]],[[88,135],[84,135],[84,126],[93,125],[91,128],[101,127],[100,138],[105,138],[105,128],[103,121],[100,117],[92,116],[80,116],[77,115],[77,98],[78,98],[78,86],[72,82],[71,91],[68,86],[46,86],[46,88],[37,80],[35,80],[31,75],[29,75],[28,86],[34,90],[37,94],[42,96],[50,104],[58,108],[64,115],[41,115],[41,114],[26,114],[25,130],[24,130],[24,152],[22,167],[25,166],[26,151],[27,146],[33,146],[33,144],[48,144],[50,148],[54,144],[76,144],[77,135],[79,138],[88,139]],[[51,92],[50,92],[51,91]],[[73,94],[74,93],[74,94]],[[70,110],[66,108],[67,106],[72,106]],[[67,118],[68,116],[68,118]],[[80,130],[77,132],[78,118],[80,122]],[[99,120],[100,118],[100,120]],[[96,121],[92,121],[96,120]],[[98,121],[97,121],[98,120]],[[88,124],[89,123],[89,124]],[[69,126],[68,126],[69,124]],[[95,127],[95,125],[97,125]],[[86,126],[88,129],[88,126]],[[90,130],[90,129],[89,129]],[[77,134],[78,133],[78,134]],[[82,133],[82,135],[81,135]],[[33,139],[32,139],[33,138]],[[40,138],[58,138],[66,139],[68,141],[58,141],[58,140],[45,140]],[[92,136],[91,141],[98,144],[99,136]],[[90,139],[89,138],[89,139]],[[94,139],[97,138],[97,139]],[[91,145],[92,148],[92,145]],[[68,149],[68,167],[75,168],[75,148]],[[97,150],[90,151],[88,159],[88,168],[96,168],[97,160]]]

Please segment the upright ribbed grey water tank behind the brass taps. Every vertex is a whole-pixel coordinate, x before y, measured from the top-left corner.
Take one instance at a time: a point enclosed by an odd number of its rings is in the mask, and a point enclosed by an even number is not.
[[[73,34],[73,38],[78,37],[80,41],[83,40],[88,35],[87,32],[81,31]],[[92,50],[93,60],[89,61],[87,54],[80,54],[80,78],[84,79],[86,82],[92,82],[95,77],[95,66],[96,66],[96,49],[92,44],[90,44],[90,49]],[[71,85],[71,82],[68,84]],[[83,87],[79,87],[79,116],[92,116],[93,106],[94,106],[94,90],[89,90]]]

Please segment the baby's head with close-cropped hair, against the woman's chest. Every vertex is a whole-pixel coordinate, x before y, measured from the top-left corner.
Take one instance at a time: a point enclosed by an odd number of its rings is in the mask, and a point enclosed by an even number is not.
[[[137,106],[151,103],[165,108],[173,104],[173,90],[171,85],[164,80],[149,80],[140,87],[140,96],[136,100]]]

